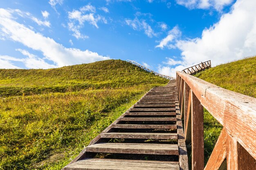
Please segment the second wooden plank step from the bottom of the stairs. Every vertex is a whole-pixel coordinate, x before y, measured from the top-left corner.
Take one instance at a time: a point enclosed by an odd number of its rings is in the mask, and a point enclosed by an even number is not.
[[[86,147],[86,152],[179,155],[177,144],[98,143]]]

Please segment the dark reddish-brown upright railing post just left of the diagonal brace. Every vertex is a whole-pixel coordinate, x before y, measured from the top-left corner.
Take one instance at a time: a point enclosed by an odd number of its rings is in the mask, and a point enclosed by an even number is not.
[[[191,100],[192,170],[204,169],[204,109],[192,91]]]

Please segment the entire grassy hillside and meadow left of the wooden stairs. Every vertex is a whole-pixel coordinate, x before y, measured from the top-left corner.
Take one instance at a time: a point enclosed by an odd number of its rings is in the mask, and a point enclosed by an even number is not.
[[[0,169],[59,170],[154,86],[121,60],[0,70]]]

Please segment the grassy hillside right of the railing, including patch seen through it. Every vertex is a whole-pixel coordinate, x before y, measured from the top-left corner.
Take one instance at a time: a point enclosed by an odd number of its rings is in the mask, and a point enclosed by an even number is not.
[[[256,57],[250,57],[227,64],[221,64],[195,75],[222,88],[256,97]],[[205,162],[220,135],[222,126],[204,110]]]

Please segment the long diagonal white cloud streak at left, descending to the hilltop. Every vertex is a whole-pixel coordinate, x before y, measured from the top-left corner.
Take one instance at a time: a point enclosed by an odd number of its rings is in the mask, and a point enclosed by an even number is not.
[[[0,35],[42,52],[47,60],[53,61],[58,67],[110,59],[89,50],[66,48],[52,38],[36,33],[16,22],[6,9],[0,9]]]

